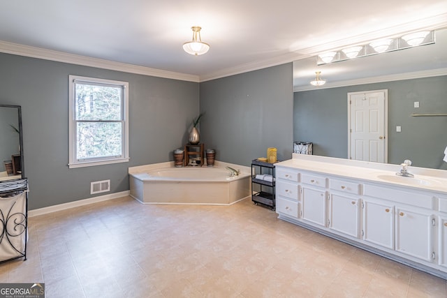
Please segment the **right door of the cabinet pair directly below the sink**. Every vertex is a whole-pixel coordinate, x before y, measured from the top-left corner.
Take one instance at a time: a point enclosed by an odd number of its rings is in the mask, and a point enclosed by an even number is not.
[[[432,214],[396,207],[396,251],[432,262]]]

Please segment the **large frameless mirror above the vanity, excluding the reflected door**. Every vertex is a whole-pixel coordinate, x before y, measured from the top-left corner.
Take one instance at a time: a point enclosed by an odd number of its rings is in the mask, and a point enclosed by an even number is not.
[[[315,57],[295,61],[294,141],[314,142],[315,155],[348,158],[348,94],[386,89],[388,163],[447,170],[447,116],[434,116],[447,114],[447,29],[435,33],[432,45],[321,66]],[[309,84],[317,70],[323,87]]]

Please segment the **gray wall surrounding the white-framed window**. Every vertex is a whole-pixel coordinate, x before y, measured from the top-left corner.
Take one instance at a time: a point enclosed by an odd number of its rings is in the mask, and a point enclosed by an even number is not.
[[[198,83],[11,54],[0,65],[0,103],[22,106],[29,209],[91,198],[91,181],[129,190],[128,167],[172,161],[199,112]],[[129,82],[129,163],[68,169],[68,75]]]

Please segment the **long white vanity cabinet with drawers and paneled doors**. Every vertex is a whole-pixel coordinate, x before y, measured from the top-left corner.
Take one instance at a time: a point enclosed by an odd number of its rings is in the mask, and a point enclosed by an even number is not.
[[[276,164],[279,218],[447,279],[444,178],[427,189],[420,185],[428,178],[405,185],[388,165],[368,172],[367,163],[354,162],[365,165],[357,169],[333,160],[294,156]]]

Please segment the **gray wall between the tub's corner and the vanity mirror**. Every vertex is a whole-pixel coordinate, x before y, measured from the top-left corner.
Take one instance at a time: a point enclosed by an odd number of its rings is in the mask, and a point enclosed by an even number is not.
[[[200,83],[201,140],[216,158],[240,165],[293,151],[293,68],[284,64]]]

